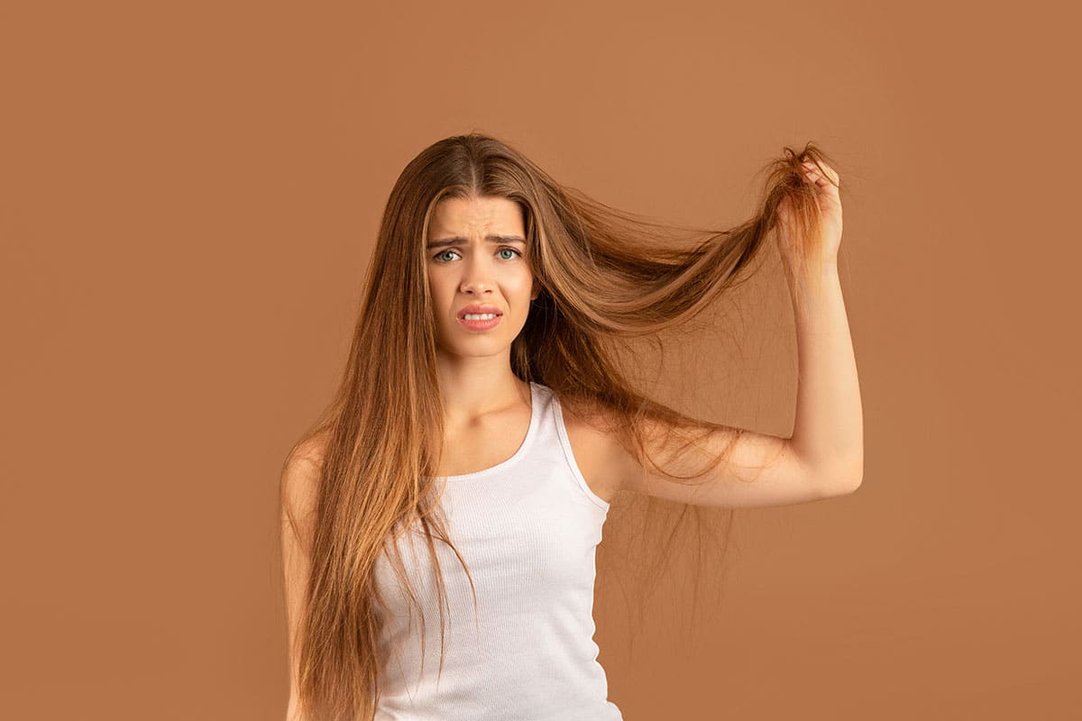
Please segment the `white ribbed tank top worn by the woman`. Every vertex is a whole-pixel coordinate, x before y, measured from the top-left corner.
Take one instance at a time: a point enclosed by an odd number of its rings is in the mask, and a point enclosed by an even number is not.
[[[447,591],[446,655],[439,667],[439,598],[420,523],[397,548],[425,614],[421,626],[385,555],[375,583],[383,617],[375,721],[619,721],[594,643],[594,551],[609,504],[571,453],[559,400],[531,383],[530,426],[506,460],[440,477],[453,551],[434,539]],[[413,543],[408,539],[412,538]]]

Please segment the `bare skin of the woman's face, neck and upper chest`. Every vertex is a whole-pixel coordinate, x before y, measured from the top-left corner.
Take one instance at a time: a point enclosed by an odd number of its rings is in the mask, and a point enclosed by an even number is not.
[[[523,241],[491,242],[489,235]],[[453,237],[463,240],[432,246]],[[440,475],[496,465],[515,452],[529,427],[529,385],[511,371],[511,343],[540,292],[525,238],[523,212],[506,198],[446,199],[430,221],[425,270],[446,429]],[[457,313],[472,303],[494,305],[503,313],[500,323],[488,331],[462,325]]]

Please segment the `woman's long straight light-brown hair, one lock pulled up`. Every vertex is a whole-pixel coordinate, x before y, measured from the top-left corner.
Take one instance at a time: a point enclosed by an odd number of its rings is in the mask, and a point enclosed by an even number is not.
[[[625,370],[626,344],[695,318],[742,282],[778,225],[784,199],[796,229],[792,237],[799,239],[790,257],[808,268],[820,258],[815,189],[800,168],[805,159],[828,160],[810,143],[799,152],[787,147],[767,169],[765,191],[752,219],[725,230],[684,228],[691,230],[691,242],[683,244],[671,237],[672,227],[559,185],[522,152],[491,136],[444,138],[406,165],[383,211],[341,384],[290,453],[292,457],[301,449],[318,449],[317,498],[311,520],[303,524],[305,533],[298,531],[302,524],[282,493],[286,518],[304,538],[311,563],[298,647],[292,650],[298,658],[299,703],[311,715],[305,718],[373,718],[380,693],[381,602],[374,565],[405,529],[413,524],[423,529],[436,569],[440,668],[446,593],[436,542],[453,550],[473,585],[465,560],[448,536],[434,488],[444,418],[424,243],[436,203],[445,198],[502,197],[522,208],[526,256],[541,292],[512,343],[513,373],[552,388],[573,415],[598,424],[606,418],[604,429],[644,468],[694,483],[727,453],[692,477],[667,473],[649,457],[645,418],[673,428],[667,443],[687,444],[695,438],[687,418],[636,390]],[[800,284],[803,279],[816,277],[795,272],[796,302],[809,290]],[[739,429],[729,430],[734,440],[740,435]],[[643,497],[612,504],[606,530],[619,523],[624,508],[629,517],[643,519],[639,526],[646,533],[621,534],[629,543],[638,539],[634,553],[618,549],[630,559],[622,568],[635,574],[637,588],[655,586],[679,547],[681,534],[695,538],[700,550],[708,537],[713,548],[724,549],[730,509],[636,495]],[[703,577],[716,575],[716,558],[702,553],[699,558]],[[420,612],[400,558],[388,553],[388,559]],[[599,559],[601,573],[606,566]],[[423,624],[423,613],[420,616]]]

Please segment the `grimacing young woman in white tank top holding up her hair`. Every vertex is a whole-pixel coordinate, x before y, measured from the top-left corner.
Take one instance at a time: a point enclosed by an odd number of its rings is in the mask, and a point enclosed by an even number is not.
[[[620,719],[592,618],[619,492],[733,508],[860,483],[839,188],[787,148],[756,217],[678,248],[496,138],[414,158],[341,387],[282,470],[288,718]],[[615,344],[696,316],[767,238],[795,309],[792,437],[637,392]]]

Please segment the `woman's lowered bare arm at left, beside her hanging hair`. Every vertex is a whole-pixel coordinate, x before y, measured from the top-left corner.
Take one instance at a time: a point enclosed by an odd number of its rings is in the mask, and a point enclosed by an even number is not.
[[[289,643],[289,708],[286,721],[305,721],[298,693],[301,616],[308,585],[312,522],[321,455],[313,441],[294,448],[282,466],[280,480],[282,582]]]

